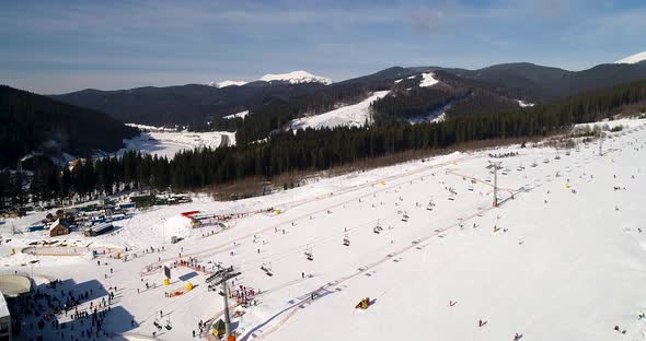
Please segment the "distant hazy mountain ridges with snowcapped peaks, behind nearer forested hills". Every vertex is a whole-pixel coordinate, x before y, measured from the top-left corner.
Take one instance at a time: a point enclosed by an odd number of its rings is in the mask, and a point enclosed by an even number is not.
[[[296,116],[318,114],[343,104],[358,103],[374,91],[402,87],[406,82],[394,83],[400,79],[438,71],[440,78],[451,78],[453,91],[462,94],[475,91],[480,97],[486,97],[487,103],[523,101],[541,104],[582,91],[646,79],[644,55],[646,54],[638,54],[616,63],[599,64],[582,71],[528,62],[495,64],[477,70],[393,67],[336,83],[305,71],[295,71],[266,74],[249,83],[224,81],[211,83],[216,86],[187,84],[117,91],[83,90],[51,97],[104,111],[126,122],[191,126],[217,121],[243,110],[250,110],[252,117],[254,113],[262,111],[263,106],[276,102],[287,103],[291,110],[298,111]],[[428,96],[428,93],[424,95]],[[495,107],[487,109],[492,108]],[[217,128],[217,125],[211,127]]]

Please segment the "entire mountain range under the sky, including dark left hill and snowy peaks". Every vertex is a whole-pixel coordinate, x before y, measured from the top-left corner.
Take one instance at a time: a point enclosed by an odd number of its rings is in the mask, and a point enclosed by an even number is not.
[[[34,151],[78,156],[92,155],[96,150],[116,151],[123,139],[137,134],[124,122],[237,131],[237,141],[243,144],[289,129],[297,119],[334,110],[354,113],[350,118],[359,126],[368,121],[420,122],[437,120],[438,116],[500,113],[644,80],[645,58],[646,54],[638,54],[582,71],[527,62],[477,70],[393,67],[336,83],[295,71],[219,87],[187,84],[117,91],[88,89],[50,96],[2,86],[0,164],[13,164]],[[379,96],[373,95],[377,92]],[[369,98],[374,101],[367,105]],[[351,108],[360,107],[360,113],[338,111],[359,103]],[[326,122],[339,120],[334,115],[331,119]]]

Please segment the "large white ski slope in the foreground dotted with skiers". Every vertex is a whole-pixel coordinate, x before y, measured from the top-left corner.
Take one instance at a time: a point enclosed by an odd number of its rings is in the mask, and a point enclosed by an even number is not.
[[[199,196],[192,203],[138,212],[95,238],[79,232],[56,238],[12,234],[12,225],[22,230],[45,215],[31,213],[0,225],[0,267],[28,273],[30,261],[39,260],[33,272],[42,292],[53,293],[42,283],[60,279],[65,290],[93,287],[95,304],[118,285],[104,329],[126,340],[150,339],[155,320],[173,326],[157,339],[189,340],[200,319],[222,316],[222,297],[207,291],[201,272],[173,268],[172,284],[162,285],[163,274],[154,269],[180,256],[209,269],[212,262],[232,264],[242,272],[233,287],[262,291],[257,306],[233,317],[239,340],[498,341],[512,340],[516,332],[522,341],[645,340],[646,325],[636,317],[646,306],[645,124],[628,120],[631,128],[603,141],[601,156],[598,141],[568,150],[569,155],[519,145],[455,152],[312,178],[266,197],[215,202]],[[507,152],[519,155],[496,158],[509,169],[498,174],[503,202],[493,208],[487,155]],[[191,228],[180,213],[193,210],[241,215],[223,231]],[[380,234],[373,233],[377,224]],[[172,235],[185,240],[170,244]],[[350,246],[342,244],[346,235]],[[22,251],[51,239],[69,246],[32,247],[39,256]],[[101,255],[107,264],[97,266],[88,244],[127,255],[128,261]],[[143,252],[150,247],[155,251]],[[46,255],[65,248],[79,256]],[[273,277],[259,269],[263,263]],[[147,282],[157,286],[147,290]],[[196,285],[193,291],[165,297],[187,282]],[[367,296],[374,304],[355,309]],[[83,302],[80,310],[88,308]],[[57,318],[69,321],[65,314]],[[481,319],[486,325],[477,327]],[[24,321],[25,339],[41,334],[28,328],[34,316]],[[626,334],[614,331],[615,325]],[[44,339],[60,331],[45,324]]]

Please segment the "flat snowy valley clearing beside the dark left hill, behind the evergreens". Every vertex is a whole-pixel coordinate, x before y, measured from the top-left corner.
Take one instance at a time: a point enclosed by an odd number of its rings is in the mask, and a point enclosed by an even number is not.
[[[160,157],[173,158],[180,151],[201,146],[218,148],[224,140],[229,145],[234,145],[235,133],[228,131],[142,131],[138,137],[124,140],[126,148],[118,151],[117,155],[135,150]]]

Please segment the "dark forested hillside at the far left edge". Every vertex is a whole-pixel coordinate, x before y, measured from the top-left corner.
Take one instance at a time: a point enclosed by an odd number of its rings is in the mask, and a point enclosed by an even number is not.
[[[27,153],[90,156],[117,151],[138,133],[103,113],[0,85],[0,168]]]

